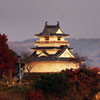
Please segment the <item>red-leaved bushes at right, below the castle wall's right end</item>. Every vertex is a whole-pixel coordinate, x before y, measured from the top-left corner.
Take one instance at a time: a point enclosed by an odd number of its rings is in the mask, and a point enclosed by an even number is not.
[[[92,69],[84,68],[78,70],[66,70],[67,81],[71,85],[78,84],[78,89],[86,89],[87,87],[96,87],[100,76],[98,75],[99,68],[94,67]]]

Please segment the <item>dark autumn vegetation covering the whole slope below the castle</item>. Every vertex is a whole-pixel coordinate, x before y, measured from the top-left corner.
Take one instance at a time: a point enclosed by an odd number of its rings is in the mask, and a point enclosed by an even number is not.
[[[12,87],[8,89],[8,94],[6,90],[0,99],[96,100],[96,94],[100,93],[99,71],[96,67],[83,67],[77,70],[66,69],[60,73],[29,73],[24,77],[24,82],[26,79],[29,84]]]

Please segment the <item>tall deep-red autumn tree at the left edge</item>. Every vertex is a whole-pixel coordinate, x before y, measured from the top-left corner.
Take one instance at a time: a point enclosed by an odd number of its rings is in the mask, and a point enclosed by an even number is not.
[[[3,74],[9,76],[10,69],[12,73],[15,71],[17,57],[13,55],[12,50],[7,44],[7,36],[0,33],[0,76]]]

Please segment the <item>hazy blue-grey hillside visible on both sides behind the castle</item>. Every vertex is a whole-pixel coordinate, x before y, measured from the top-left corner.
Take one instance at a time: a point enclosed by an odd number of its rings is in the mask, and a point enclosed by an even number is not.
[[[28,39],[19,42],[8,42],[9,47],[18,54],[31,52],[36,39]],[[73,48],[73,53],[78,53],[80,56],[87,57],[87,64],[92,66],[100,65],[100,39],[69,39],[70,47]]]

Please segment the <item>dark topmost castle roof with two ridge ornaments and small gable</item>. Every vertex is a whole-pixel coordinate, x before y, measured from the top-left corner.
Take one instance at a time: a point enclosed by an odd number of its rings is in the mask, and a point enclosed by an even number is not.
[[[47,25],[47,22],[45,22],[44,30],[39,34],[36,34],[35,36],[45,36],[46,37],[46,36],[52,36],[52,35],[69,36],[69,34],[63,33],[63,31],[60,28],[59,22],[57,22],[57,25]]]

